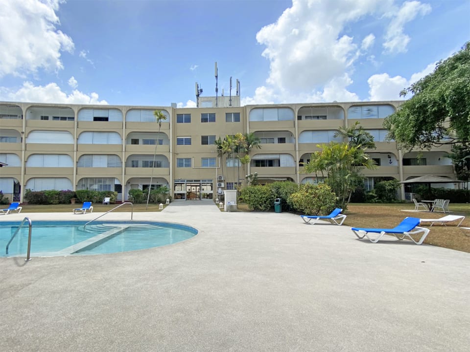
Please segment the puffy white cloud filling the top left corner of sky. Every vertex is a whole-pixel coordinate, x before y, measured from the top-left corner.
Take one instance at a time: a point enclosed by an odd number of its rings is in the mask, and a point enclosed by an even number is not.
[[[0,13],[0,77],[60,70],[61,52],[72,53],[72,39],[56,29],[61,0],[2,0]],[[12,30],[14,28],[14,30]]]

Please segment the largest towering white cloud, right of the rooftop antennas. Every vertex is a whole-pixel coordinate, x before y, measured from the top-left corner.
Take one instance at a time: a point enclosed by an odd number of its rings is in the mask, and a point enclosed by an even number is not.
[[[333,96],[334,100],[356,100],[357,95],[347,90],[349,77],[361,50],[370,48],[375,36],[369,34],[356,43],[344,34],[346,26],[367,15],[381,16],[392,5],[393,0],[293,0],[292,7],[256,36],[265,46],[262,55],[269,60],[269,76],[242,103],[281,102],[287,96],[294,101],[304,97],[330,100]]]

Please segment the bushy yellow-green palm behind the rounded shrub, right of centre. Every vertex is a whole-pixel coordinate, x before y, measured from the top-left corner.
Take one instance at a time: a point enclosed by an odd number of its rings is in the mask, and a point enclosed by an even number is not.
[[[338,197],[337,206],[346,209],[352,192],[362,182],[361,170],[376,165],[361,146],[330,142],[317,147],[322,150],[311,154],[304,172],[326,177],[325,183]]]

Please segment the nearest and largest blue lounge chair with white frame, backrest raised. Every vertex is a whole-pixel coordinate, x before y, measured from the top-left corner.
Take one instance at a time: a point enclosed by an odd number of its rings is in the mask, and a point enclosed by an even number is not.
[[[378,240],[382,238],[385,234],[395,235],[399,241],[403,240],[405,237],[408,237],[411,241],[415,242],[416,244],[423,243],[424,239],[426,238],[427,234],[429,233],[429,229],[424,227],[418,227],[420,224],[421,219],[418,218],[405,218],[400,224],[393,229],[375,229],[375,228],[360,228],[360,227],[352,227],[351,230],[354,232],[354,235],[357,236],[359,239],[363,239],[367,237],[367,239],[373,243],[377,243]],[[415,231],[412,231],[415,230]],[[415,241],[411,235],[423,233],[423,236],[419,239],[419,241]],[[369,237],[370,233],[379,234],[376,239]]]

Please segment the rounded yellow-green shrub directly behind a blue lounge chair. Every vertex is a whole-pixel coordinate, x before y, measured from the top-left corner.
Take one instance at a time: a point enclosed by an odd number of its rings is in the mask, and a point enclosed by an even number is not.
[[[287,202],[305,215],[328,215],[335,208],[338,198],[325,183],[301,185],[298,192],[289,196]]]

